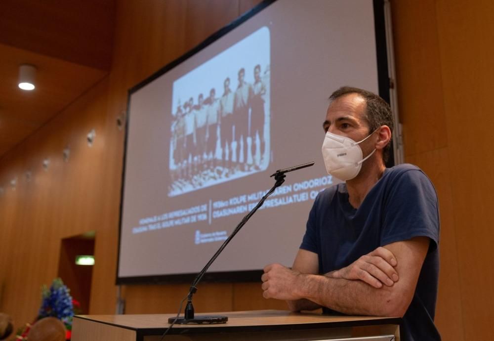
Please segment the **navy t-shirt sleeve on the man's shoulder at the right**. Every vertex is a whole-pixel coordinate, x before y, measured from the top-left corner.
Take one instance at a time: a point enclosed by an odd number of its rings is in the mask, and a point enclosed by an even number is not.
[[[381,246],[411,239],[429,237],[439,242],[439,211],[436,190],[429,178],[420,170],[405,171],[390,184],[385,199],[385,213],[381,230]]]

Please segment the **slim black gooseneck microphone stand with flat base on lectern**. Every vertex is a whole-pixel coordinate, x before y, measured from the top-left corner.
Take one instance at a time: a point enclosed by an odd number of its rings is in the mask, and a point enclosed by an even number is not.
[[[312,163],[310,166],[312,166],[314,163]],[[309,167],[306,165],[303,165],[304,167]],[[257,211],[259,207],[264,204],[264,201],[269,197],[277,187],[280,187],[283,182],[285,182],[285,173],[290,170],[279,170],[276,173],[274,173],[271,176],[275,177],[275,184],[271,189],[261,198],[261,200],[257,203],[257,205],[249,212],[247,215],[242,219],[242,221],[237,225],[235,230],[228,236],[228,238],[224,241],[224,243],[219,247],[218,251],[209,259],[207,262],[206,266],[199,272],[192,281],[192,284],[189,289],[189,294],[187,294],[187,305],[185,306],[185,313],[183,318],[175,318],[175,317],[170,317],[168,319],[168,323],[170,323],[170,327],[175,324],[216,324],[216,323],[226,323],[228,321],[227,316],[222,316],[222,315],[215,315],[215,316],[194,316],[194,306],[192,305],[192,296],[197,292],[197,284],[201,281],[203,278],[204,274],[206,273],[207,269],[211,264],[214,262],[214,260],[221,254],[223,249],[230,243],[230,241],[235,237],[235,235],[240,231],[242,226],[244,226],[247,223],[247,220]]]

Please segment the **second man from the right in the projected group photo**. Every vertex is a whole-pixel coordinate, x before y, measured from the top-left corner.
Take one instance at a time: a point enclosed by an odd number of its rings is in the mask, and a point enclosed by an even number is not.
[[[250,97],[252,96],[252,85],[245,81],[246,71],[239,70],[239,85],[235,90],[233,104],[233,119],[235,120],[235,140],[237,148],[234,151],[237,155],[237,162],[244,163],[244,170],[247,170],[247,136],[248,136],[248,111]],[[240,157],[243,155],[243,159]]]

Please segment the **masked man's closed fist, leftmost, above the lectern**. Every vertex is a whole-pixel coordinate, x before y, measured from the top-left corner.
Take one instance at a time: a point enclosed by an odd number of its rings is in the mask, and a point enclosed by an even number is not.
[[[269,264],[264,267],[262,280],[262,296],[294,300],[301,297],[296,295],[296,288],[300,285],[302,274],[281,264]]]

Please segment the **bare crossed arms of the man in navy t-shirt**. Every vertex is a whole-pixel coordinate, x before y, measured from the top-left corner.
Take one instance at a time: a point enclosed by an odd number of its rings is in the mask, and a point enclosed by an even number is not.
[[[317,254],[299,250],[292,269],[264,268],[263,296],[287,300],[292,311],[325,306],[352,315],[403,316],[428,247],[427,237],[391,243],[324,276],[317,275]]]

